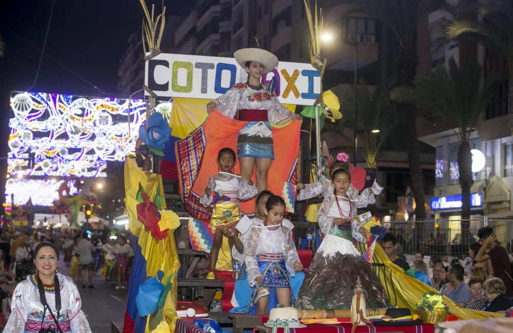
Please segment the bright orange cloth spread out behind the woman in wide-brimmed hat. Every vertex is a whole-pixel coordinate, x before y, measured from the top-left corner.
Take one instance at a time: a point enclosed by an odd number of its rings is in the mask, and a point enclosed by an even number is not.
[[[227,118],[216,111],[210,113],[203,125],[207,144],[200,172],[192,185],[194,193],[201,197],[210,176],[219,172],[217,158],[220,149],[228,147],[237,151],[238,133],[246,123],[246,121]],[[286,126],[272,128],[274,160],[271,162],[271,168],[267,175],[267,186],[268,190],[274,194],[281,194],[285,181],[295,183],[295,177],[292,176],[297,163],[300,129],[300,120],[292,120]],[[235,164],[234,172],[240,174],[239,160]],[[254,173],[252,179],[254,182]],[[245,214],[253,213],[255,199],[241,202],[241,210]]]

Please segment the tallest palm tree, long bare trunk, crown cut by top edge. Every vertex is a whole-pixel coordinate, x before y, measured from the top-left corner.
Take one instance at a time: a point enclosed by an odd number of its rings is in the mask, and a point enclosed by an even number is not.
[[[411,85],[417,74],[419,56],[415,44],[417,25],[425,15],[447,6],[445,0],[351,0],[356,10],[377,17],[396,37],[399,43],[397,54],[397,72],[399,85]],[[417,135],[417,111],[414,107],[403,104],[399,106],[402,116],[409,126],[406,127],[408,143],[408,162],[410,169],[413,197],[417,202],[415,215],[424,219],[424,175],[420,162],[419,141]]]

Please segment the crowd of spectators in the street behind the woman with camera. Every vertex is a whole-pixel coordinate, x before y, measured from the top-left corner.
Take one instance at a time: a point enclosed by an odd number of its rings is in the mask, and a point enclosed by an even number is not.
[[[86,288],[87,283],[88,288],[95,288],[93,275],[112,281],[116,289],[123,289],[128,283],[132,247],[124,235],[113,236],[107,228],[44,227],[30,232],[2,228],[0,232],[0,328],[9,317],[14,287],[35,273],[33,251],[41,242],[48,241],[62,250],[61,260],[69,267],[69,276],[78,287]]]

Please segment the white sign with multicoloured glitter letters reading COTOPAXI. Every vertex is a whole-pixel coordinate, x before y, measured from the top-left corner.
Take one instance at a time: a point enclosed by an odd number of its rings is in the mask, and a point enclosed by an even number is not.
[[[312,105],[321,90],[321,74],[310,64],[280,62],[262,82],[273,76],[282,103]],[[234,58],[161,53],[146,61],[144,82],[160,97],[213,99],[246,80],[246,71]]]

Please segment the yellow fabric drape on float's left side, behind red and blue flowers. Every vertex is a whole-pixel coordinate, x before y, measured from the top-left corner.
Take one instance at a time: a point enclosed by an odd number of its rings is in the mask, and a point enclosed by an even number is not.
[[[146,232],[142,223],[137,220],[137,213],[133,210],[134,194],[142,185],[143,191],[148,194],[151,200],[156,195],[157,189],[160,188],[160,195],[164,196],[162,190],[162,177],[157,174],[142,171],[133,158],[127,158],[125,161],[125,190],[127,198],[128,221],[130,232],[138,238],[141,253],[146,259],[146,275],[155,276],[159,270],[164,272],[163,281],[167,279],[169,274],[173,274],[171,283],[173,287],[167,295],[166,302],[162,309],[164,320],[169,326],[171,332],[174,331],[176,320],[176,299],[177,299],[177,273],[180,268],[180,261],[176,252],[176,244],[174,241],[173,231],[169,230],[167,237],[163,240],[155,240],[150,232]],[[132,207],[129,207],[132,205]],[[164,202],[164,208],[166,203]],[[147,317],[145,333],[150,333],[150,321],[155,314]]]

